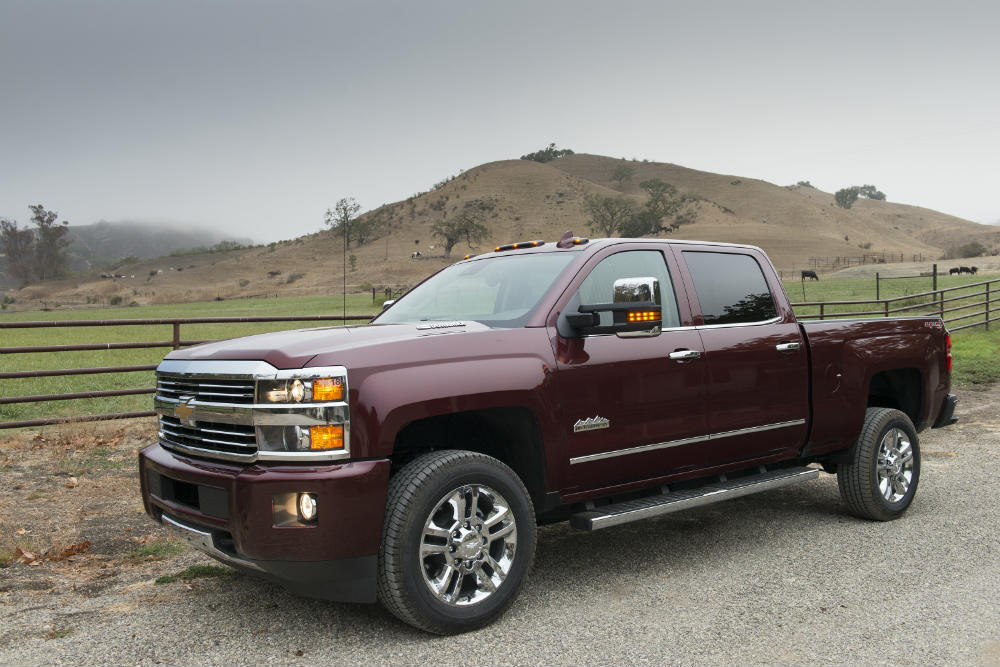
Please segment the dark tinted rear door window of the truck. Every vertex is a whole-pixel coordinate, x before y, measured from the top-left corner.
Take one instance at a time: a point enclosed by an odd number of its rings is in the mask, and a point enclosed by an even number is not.
[[[778,316],[760,265],[750,255],[685,251],[705,324],[761,322]]]

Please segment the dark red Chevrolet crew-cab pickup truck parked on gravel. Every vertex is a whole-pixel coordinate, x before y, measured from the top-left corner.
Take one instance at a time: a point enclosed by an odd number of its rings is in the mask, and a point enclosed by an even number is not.
[[[491,622],[538,523],[596,530],[836,473],[899,517],[953,423],[940,319],[797,322],[758,248],[564,236],[431,276],[370,325],[172,352],[157,521],[309,596]],[[818,464],[811,466],[810,464]]]

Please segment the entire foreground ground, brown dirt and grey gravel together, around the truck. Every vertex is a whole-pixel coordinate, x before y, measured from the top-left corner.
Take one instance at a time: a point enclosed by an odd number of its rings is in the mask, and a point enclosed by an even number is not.
[[[958,393],[959,424],[922,436],[904,519],[847,516],[822,476],[600,533],[546,526],[531,586],[480,631],[536,639],[462,658],[379,607],[296,598],[172,540],[139,496],[152,419],[0,433],[0,664],[1000,664],[983,486],[1000,386]],[[882,548],[912,560],[870,560]],[[627,567],[609,579],[608,562]]]

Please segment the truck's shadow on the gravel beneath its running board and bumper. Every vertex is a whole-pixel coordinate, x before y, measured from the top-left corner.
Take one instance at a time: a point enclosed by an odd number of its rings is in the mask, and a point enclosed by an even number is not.
[[[790,545],[815,541],[836,524],[857,521],[841,504],[835,480],[821,480],[595,532],[578,531],[565,522],[541,526],[526,585],[498,623],[521,623],[524,614],[558,615],[567,601],[577,603],[581,596],[592,604],[627,596],[623,571],[629,579],[714,580],[734,568],[754,570],[780,560],[779,552]],[[235,609],[253,609],[261,599],[268,600],[267,607],[286,622],[308,619],[322,628],[324,641],[447,641],[405,625],[379,605],[296,597],[251,577],[241,578],[233,592],[247,599]]]

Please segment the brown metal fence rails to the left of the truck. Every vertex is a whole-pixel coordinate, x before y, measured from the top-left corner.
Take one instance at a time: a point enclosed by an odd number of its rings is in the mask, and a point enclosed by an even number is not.
[[[42,329],[68,327],[123,327],[123,326],[164,326],[173,327],[171,340],[141,341],[129,343],[83,343],[77,345],[22,345],[0,347],[0,354],[29,354],[39,352],[84,352],[92,350],[129,350],[143,348],[172,348],[213,343],[215,340],[188,340],[181,338],[181,326],[185,324],[245,324],[253,322],[357,322],[367,321],[374,315],[280,315],[252,317],[171,317],[151,319],[123,320],[42,320],[33,322],[0,322],[0,329]],[[136,373],[151,371],[155,364],[135,366],[95,366],[92,368],[54,368],[30,371],[0,372],[0,379],[60,377],[68,375],[95,375],[102,373]],[[99,391],[65,392],[59,394],[36,394],[31,396],[0,396],[0,405],[19,403],[40,403],[45,401],[65,401],[81,398],[103,398],[113,396],[134,396],[152,394],[152,387],[133,387],[129,389],[105,389]],[[112,419],[129,419],[132,417],[151,417],[156,413],[152,410],[138,412],[111,412],[96,415],[73,415],[49,419],[22,419],[0,422],[0,429],[23,428],[29,426],[47,426],[51,424],[66,424],[74,422],[106,421]]]

